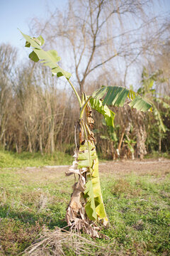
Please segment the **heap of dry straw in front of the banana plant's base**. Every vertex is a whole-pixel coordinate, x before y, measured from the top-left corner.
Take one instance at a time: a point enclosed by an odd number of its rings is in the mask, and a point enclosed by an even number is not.
[[[99,246],[96,242],[82,237],[79,233],[56,228],[55,231],[44,230],[40,239],[30,245],[24,255],[60,256],[60,255],[113,255],[112,245]],[[115,254],[116,255],[116,254]]]

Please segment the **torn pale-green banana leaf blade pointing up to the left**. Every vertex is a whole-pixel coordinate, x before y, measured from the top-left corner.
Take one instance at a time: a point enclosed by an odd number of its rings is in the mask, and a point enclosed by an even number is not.
[[[57,62],[60,61],[61,58],[58,56],[56,50],[42,50],[42,48],[40,47],[44,43],[44,39],[42,38],[42,36],[39,36],[38,38],[31,38],[24,33],[22,33],[22,35],[26,39],[26,47],[32,46],[33,48],[33,52],[29,55],[29,58],[31,60],[35,62],[38,62],[38,60],[40,60],[43,65],[49,66],[51,68],[52,75],[57,75],[57,77],[64,75],[64,77],[67,79],[71,77],[71,73],[64,71],[62,68],[60,68],[59,65],[57,65]]]

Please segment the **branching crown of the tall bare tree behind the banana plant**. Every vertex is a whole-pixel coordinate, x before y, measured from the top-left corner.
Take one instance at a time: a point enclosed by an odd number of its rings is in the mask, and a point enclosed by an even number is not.
[[[57,10],[50,14],[43,35],[57,45],[62,42],[83,92],[89,74],[97,74],[103,67],[112,72],[114,58],[118,62],[128,57],[131,65],[142,53],[152,50],[164,28],[154,31],[155,17],[147,17],[147,8],[152,8],[152,1],[69,0],[65,14]],[[35,22],[32,26],[36,30],[42,27],[38,20]],[[147,33],[148,29],[152,34]]]

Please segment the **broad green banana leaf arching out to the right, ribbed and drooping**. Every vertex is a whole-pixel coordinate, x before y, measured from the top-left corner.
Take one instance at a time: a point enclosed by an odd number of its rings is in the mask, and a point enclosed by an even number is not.
[[[136,92],[128,90],[121,86],[102,86],[100,89],[96,90],[92,97],[94,99],[101,100],[104,96],[103,105],[113,105],[116,107],[122,107],[125,103],[127,97],[132,100],[130,102],[130,107],[134,107],[140,111],[147,111],[151,109],[152,105],[149,104],[143,97],[137,95]]]

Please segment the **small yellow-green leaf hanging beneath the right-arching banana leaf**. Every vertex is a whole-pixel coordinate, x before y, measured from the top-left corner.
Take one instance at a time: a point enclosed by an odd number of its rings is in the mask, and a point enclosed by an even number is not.
[[[102,100],[91,98],[90,104],[94,110],[103,114],[108,126],[114,127],[115,113],[112,110],[109,110],[108,106],[103,105]]]

